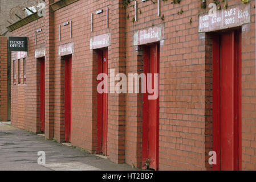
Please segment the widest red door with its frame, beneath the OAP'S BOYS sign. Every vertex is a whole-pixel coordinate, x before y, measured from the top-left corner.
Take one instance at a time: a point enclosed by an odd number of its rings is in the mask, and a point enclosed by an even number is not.
[[[241,134],[241,32],[230,31],[213,42],[213,169],[241,169]]]

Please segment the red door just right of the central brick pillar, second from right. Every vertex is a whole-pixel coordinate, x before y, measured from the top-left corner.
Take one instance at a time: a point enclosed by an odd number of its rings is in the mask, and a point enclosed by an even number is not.
[[[154,74],[159,74],[159,45],[144,48],[144,73],[152,74],[152,88],[154,88]],[[147,80],[147,88],[148,88]],[[157,85],[159,89],[159,85]],[[154,93],[143,94],[143,165],[148,164],[151,169],[159,168],[159,97],[149,100],[148,96]],[[144,168],[147,166],[144,166]]]

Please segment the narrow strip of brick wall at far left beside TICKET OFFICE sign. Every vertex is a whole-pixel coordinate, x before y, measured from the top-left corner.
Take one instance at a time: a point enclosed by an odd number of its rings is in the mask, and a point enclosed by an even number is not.
[[[0,36],[0,121],[7,121],[7,38]]]

